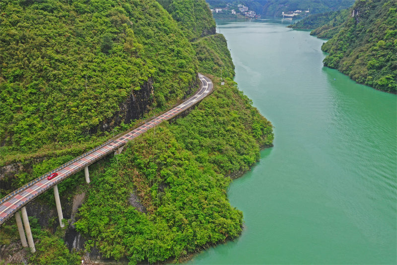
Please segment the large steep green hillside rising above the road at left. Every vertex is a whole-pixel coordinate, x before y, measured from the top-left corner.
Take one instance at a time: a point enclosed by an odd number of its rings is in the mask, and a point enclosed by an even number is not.
[[[160,109],[196,82],[194,50],[154,0],[3,0],[0,9],[2,156],[92,139],[150,78],[148,104]]]

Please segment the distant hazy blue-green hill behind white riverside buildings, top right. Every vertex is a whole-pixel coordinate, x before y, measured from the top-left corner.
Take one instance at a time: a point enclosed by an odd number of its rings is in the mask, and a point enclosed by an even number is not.
[[[282,12],[310,10],[310,14],[324,13],[348,8],[354,0],[268,0],[263,15],[281,16]]]

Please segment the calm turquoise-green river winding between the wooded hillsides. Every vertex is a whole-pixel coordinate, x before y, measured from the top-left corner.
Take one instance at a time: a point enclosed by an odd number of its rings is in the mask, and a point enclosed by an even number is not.
[[[323,67],[324,40],[281,21],[217,31],[275,140],[229,187],[242,235],[189,264],[396,264],[396,95]]]

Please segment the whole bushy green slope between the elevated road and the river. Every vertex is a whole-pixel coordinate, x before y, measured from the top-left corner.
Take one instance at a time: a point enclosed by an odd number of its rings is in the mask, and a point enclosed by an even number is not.
[[[234,238],[242,214],[226,199],[225,175],[248,170],[260,146],[271,145],[271,132],[228,81],[187,117],[151,130],[113,159],[91,182],[76,227],[91,237],[88,247],[132,262],[178,259]],[[132,193],[146,214],[130,205]]]

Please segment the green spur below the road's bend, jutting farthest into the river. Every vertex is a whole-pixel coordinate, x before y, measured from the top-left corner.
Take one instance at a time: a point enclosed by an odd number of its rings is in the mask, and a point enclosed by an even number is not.
[[[232,81],[217,88],[171,128],[178,142],[199,154],[199,161],[210,162],[224,175],[249,170],[259,159],[260,147],[271,146],[273,141],[270,122]]]

